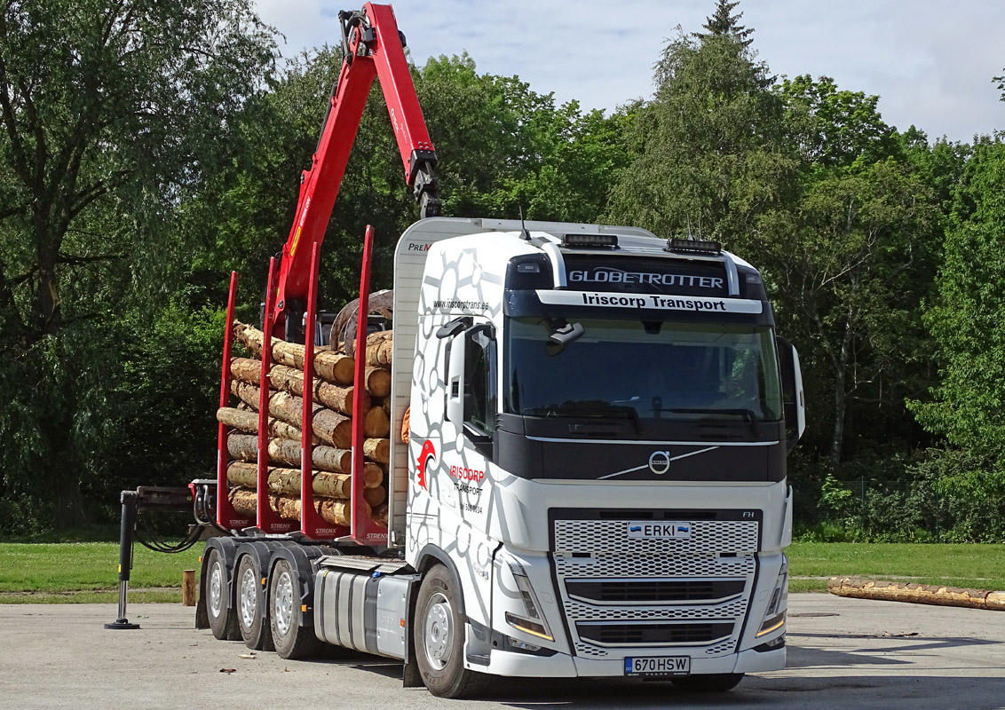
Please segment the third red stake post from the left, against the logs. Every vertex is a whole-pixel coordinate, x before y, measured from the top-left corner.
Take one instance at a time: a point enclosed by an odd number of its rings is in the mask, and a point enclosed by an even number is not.
[[[314,346],[315,322],[318,312],[318,271],[321,245],[315,242],[311,253],[311,281],[308,285],[307,323],[304,326],[304,412],[300,416],[303,438],[300,439],[300,532],[312,539],[335,539],[348,535],[350,528],[332,525],[315,509],[314,502],[314,445],[312,422],[314,421]]]

